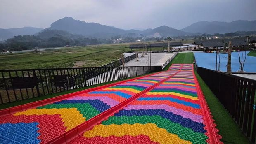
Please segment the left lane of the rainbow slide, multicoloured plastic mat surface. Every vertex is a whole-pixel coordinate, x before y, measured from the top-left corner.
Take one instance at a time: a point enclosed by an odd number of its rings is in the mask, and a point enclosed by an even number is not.
[[[175,72],[161,72],[0,117],[0,143],[46,143],[157,84]],[[22,135],[18,135],[24,133]]]

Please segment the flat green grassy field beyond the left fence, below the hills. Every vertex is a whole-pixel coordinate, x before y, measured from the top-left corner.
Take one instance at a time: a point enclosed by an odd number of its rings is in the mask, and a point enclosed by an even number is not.
[[[183,41],[183,43],[187,42],[190,41]],[[145,42],[144,44],[147,43],[148,42]],[[0,54],[0,70],[63,67],[99,67],[107,63],[111,63],[114,59],[121,58],[121,53],[123,49],[125,52],[130,51],[130,44],[136,43],[101,44],[85,47],[66,47],[60,49],[40,51],[39,53],[26,52]],[[164,50],[166,49],[168,48],[164,48]],[[135,49],[135,51],[142,50],[145,51],[145,49]],[[159,50],[162,50],[162,48],[151,49],[151,51]]]

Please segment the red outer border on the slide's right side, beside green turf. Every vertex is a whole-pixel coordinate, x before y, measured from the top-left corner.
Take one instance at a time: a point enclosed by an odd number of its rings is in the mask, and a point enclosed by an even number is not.
[[[206,140],[206,142],[208,144],[223,144],[223,142],[220,141],[222,137],[221,135],[218,134],[219,130],[216,128],[217,125],[216,123],[214,123],[213,116],[211,115],[211,111],[204,97],[204,93],[201,89],[201,86],[197,80],[196,75],[194,74],[194,67],[192,68],[192,70],[193,70],[194,81],[196,83],[197,94],[200,100],[200,106],[204,114],[204,124],[206,125],[204,129],[207,131],[205,135],[209,137]]]

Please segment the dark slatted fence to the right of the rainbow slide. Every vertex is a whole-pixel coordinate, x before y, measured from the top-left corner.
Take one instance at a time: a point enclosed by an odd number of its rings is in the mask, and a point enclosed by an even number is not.
[[[197,72],[244,134],[255,143],[256,81],[202,67],[197,67]]]

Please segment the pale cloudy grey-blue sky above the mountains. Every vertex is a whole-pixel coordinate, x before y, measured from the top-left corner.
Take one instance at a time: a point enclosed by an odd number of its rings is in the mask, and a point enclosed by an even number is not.
[[[256,20],[256,0],[0,0],[0,28],[47,28],[65,16],[123,29]]]

